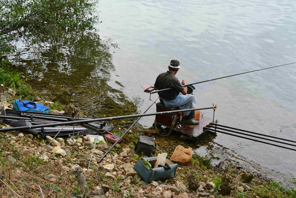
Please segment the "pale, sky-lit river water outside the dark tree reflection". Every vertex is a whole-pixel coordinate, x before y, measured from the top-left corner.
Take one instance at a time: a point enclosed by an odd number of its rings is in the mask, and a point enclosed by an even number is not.
[[[100,0],[98,11],[101,38],[118,44],[111,48],[109,85],[140,99],[142,112],[151,101],[140,86],[153,85],[172,59],[181,63],[177,77],[188,83],[296,62],[293,0]],[[296,140],[296,65],[195,87],[196,106],[217,103],[220,124]],[[149,127],[153,119],[141,124]],[[295,151],[221,133],[214,145],[271,172],[296,175]]]

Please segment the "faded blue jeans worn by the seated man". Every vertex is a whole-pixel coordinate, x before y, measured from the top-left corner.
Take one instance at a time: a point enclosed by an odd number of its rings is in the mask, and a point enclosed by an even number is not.
[[[179,95],[175,99],[171,99],[171,100],[162,99],[162,100],[167,107],[178,106],[181,109],[193,109],[197,102],[195,99],[195,96],[190,94],[183,95],[181,93],[179,93]],[[193,112],[193,115],[194,115],[194,111],[185,111],[183,113],[185,114],[185,116],[188,116],[191,112]]]

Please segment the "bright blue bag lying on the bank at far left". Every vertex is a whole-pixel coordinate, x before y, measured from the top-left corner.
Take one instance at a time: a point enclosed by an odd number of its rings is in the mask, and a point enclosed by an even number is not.
[[[38,111],[43,113],[48,113],[49,108],[43,106],[42,104],[32,102],[30,100],[20,101],[18,99],[13,103],[13,107],[19,111]]]

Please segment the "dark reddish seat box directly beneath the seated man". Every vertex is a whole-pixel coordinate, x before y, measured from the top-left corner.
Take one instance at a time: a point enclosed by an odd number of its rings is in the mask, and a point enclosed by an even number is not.
[[[179,107],[166,107],[160,102],[156,103],[156,112],[162,112],[162,111],[175,111],[180,110]],[[161,115],[156,115],[156,121],[159,123],[162,123],[167,126],[171,126],[173,123],[174,117],[177,115],[175,125],[180,122],[180,113],[165,113]]]

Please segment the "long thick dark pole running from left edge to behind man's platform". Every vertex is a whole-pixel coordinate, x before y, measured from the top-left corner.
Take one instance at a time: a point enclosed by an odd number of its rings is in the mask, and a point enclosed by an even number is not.
[[[214,109],[214,108],[216,108],[216,107],[211,106],[211,107],[207,107],[207,108],[192,108],[192,109],[183,109],[183,110],[175,110],[175,111],[162,111],[162,112],[148,113],[148,114],[134,114],[134,115],[126,115],[126,116],[96,118],[96,119],[77,120],[77,121],[69,121],[69,122],[58,122],[58,123],[44,124],[44,125],[4,128],[4,129],[0,129],[0,132],[26,130],[26,129],[36,129],[36,128],[42,128],[42,127],[55,127],[55,126],[59,126],[59,125],[72,125],[72,124],[89,123],[89,122],[96,122],[96,121],[118,120],[118,119],[124,119],[124,118],[145,117],[145,116],[152,116],[152,115],[161,115],[161,114],[168,114],[168,113],[179,113],[179,112],[185,112],[185,111],[196,111],[196,110],[205,110],[205,109]]]

